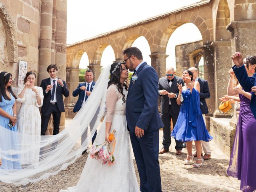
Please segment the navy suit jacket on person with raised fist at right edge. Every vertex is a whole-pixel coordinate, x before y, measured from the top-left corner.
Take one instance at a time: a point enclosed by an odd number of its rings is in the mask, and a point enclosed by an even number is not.
[[[256,73],[254,73],[252,77],[248,77],[244,65],[241,67],[233,66],[232,68],[234,70],[236,78],[238,79],[244,91],[246,92],[252,91],[252,87],[256,86]],[[256,95],[254,94],[254,92],[252,92],[250,108],[252,110],[254,117],[256,118]]]

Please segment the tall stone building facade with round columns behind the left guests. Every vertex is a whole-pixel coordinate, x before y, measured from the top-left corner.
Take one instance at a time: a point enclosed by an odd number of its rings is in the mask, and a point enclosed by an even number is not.
[[[66,22],[67,0],[0,1],[0,71],[12,73],[14,87],[20,60],[37,74],[37,85],[49,77],[49,64],[66,79]]]

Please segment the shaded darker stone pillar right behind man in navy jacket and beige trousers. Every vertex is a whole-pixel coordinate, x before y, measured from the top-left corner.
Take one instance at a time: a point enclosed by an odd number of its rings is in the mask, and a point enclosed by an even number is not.
[[[213,47],[205,45],[202,47],[204,54],[204,78],[208,81],[208,85],[210,88],[211,97],[206,99],[206,103],[209,109],[209,113],[212,114],[216,109],[215,104],[215,77],[214,77],[214,50]]]

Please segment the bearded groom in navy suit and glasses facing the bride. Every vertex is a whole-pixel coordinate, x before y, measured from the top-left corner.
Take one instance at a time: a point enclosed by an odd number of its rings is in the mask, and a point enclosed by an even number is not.
[[[158,162],[159,129],[164,126],[158,112],[158,76],[143,61],[136,47],[123,51],[124,63],[134,71],[126,98],[126,119],[140,175],[141,192],[161,192]]]

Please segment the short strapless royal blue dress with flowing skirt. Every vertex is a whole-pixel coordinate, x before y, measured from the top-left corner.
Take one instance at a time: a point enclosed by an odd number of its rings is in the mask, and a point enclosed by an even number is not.
[[[183,102],[180,107],[178,120],[171,136],[178,141],[210,141],[213,139],[206,129],[200,109],[200,96],[198,90],[182,91]]]

